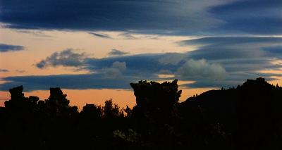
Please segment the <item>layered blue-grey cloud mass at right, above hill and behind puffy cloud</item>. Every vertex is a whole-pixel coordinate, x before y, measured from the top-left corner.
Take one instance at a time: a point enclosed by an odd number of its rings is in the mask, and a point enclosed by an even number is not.
[[[220,64],[226,70],[226,77],[218,82],[202,78],[190,84],[190,87],[230,87],[240,84],[246,78],[259,76],[272,80],[278,74],[263,74],[260,70],[279,70],[281,63],[279,49],[281,37],[203,37],[179,42],[180,45],[196,45],[195,51],[187,53],[194,60],[205,59],[209,63]]]

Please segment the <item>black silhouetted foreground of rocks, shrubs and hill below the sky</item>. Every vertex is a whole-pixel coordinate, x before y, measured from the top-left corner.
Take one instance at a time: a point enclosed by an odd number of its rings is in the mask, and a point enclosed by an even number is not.
[[[44,101],[10,89],[0,149],[282,149],[282,87],[263,78],[183,103],[177,80],[130,85],[133,109],[109,100],[80,112],[59,88]]]

